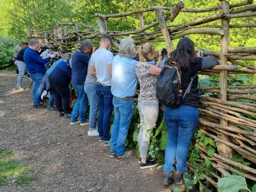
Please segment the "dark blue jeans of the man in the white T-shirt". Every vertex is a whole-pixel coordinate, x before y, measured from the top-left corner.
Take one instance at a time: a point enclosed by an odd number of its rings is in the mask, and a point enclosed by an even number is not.
[[[99,116],[98,116],[98,132],[99,136],[102,137],[104,141],[110,140],[110,119],[113,109],[113,95],[111,93],[111,86],[97,85],[97,95],[99,102]]]

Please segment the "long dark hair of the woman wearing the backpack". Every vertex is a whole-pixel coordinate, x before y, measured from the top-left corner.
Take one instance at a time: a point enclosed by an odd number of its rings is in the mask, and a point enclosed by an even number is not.
[[[167,59],[170,63],[172,61],[176,62],[181,71],[187,71],[189,68],[190,61],[197,62],[198,57],[196,57],[195,44],[188,37],[183,37],[178,42],[176,50]]]

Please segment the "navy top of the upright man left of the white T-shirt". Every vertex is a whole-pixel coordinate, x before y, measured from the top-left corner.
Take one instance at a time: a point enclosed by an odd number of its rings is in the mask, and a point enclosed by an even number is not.
[[[88,70],[90,56],[82,51],[76,51],[72,56],[72,85],[83,85]]]

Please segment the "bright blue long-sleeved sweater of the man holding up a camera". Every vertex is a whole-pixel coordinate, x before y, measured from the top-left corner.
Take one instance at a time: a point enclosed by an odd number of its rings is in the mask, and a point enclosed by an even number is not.
[[[26,48],[23,58],[29,73],[45,73],[45,63],[51,61],[51,57],[42,58],[29,47]]]

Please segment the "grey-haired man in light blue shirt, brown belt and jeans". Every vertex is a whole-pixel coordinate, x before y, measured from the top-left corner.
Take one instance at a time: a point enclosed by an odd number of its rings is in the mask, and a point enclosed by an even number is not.
[[[132,38],[120,41],[119,55],[112,62],[111,92],[114,96],[115,119],[111,132],[110,157],[117,161],[129,158],[132,151],[125,151],[125,140],[134,114],[134,95],[137,88],[135,72],[136,46]]]

